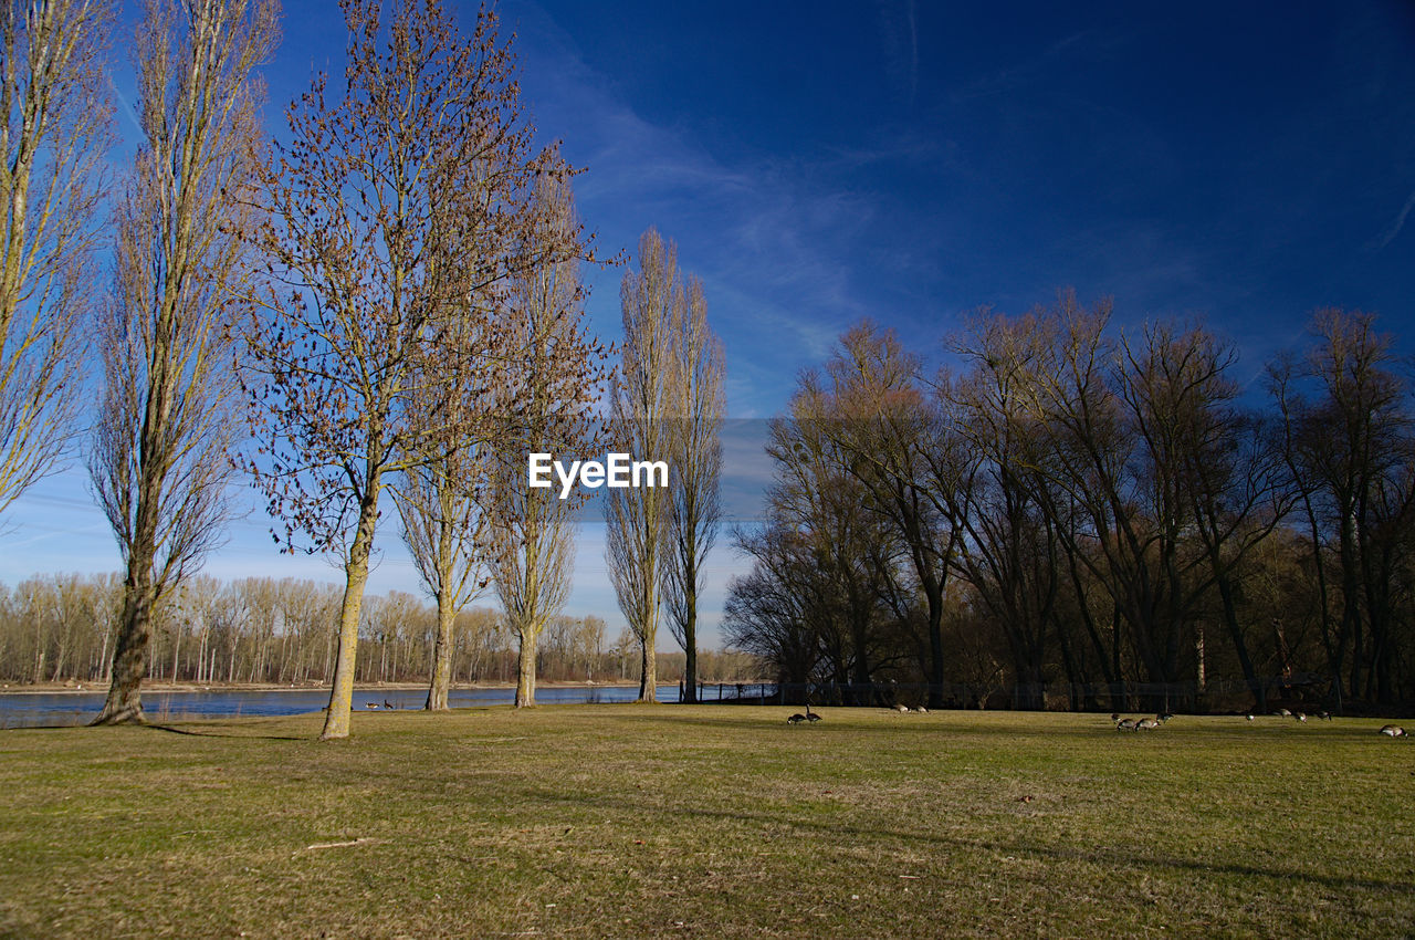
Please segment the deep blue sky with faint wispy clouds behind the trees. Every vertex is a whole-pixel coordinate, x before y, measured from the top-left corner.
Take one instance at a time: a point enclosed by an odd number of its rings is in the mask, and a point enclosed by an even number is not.
[[[470,27],[473,6],[458,10]],[[1022,313],[1065,286],[1114,296],[1122,326],[1204,319],[1238,343],[1244,378],[1300,344],[1322,306],[1411,333],[1415,4],[498,10],[542,136],[586,168],[579,207],[601,246],[631,251],[655,225],[703,279],[734,418],[780,412],[860,317],[938,358],[968,311]],[[287,3],[272,132],[313,69],[338,71],[342,41],[334,3]],[[113,69],[126,95],[130,71]],[[606,338],[621,273],[590,275]],[[21,498],[0,521],[0,580],[116,568],[88,505],[79,471]],[[238,524],[208,571],[338,578],[263,532],[259,514]],[[415,590],[392,522],[381,542],[371,590]],[[617,629],[600,527],[580,545],[570,612]],[[709,624],[741,568],[716,552]]]

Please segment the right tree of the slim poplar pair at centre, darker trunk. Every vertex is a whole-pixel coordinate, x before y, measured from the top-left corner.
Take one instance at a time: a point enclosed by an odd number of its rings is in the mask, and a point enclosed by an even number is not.
[[[688,280],[686,303],[674,304],[671,324],[668,463],[678,471],[669,505],[669,548],[664,565],[668,623],[682,644],[683,697],[698,701],[698,596],[703,565],[717,538],[722,517],[722,422],[724,357],[722,341],[708,326],[702,282]]]

